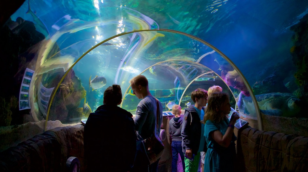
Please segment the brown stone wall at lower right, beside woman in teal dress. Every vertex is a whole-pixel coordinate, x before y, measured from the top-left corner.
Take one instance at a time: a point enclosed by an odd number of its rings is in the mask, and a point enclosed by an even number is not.
[[[247,128],[238,132],[239,171],[307,171],[308,137]]]

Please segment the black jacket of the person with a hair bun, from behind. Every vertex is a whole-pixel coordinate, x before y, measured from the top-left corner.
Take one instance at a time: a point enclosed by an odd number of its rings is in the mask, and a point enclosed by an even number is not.
[[[84,126],[87,171],[129,171],[136,154],[134,127],[132,114],[118,106],[102,105],[90,113]]]

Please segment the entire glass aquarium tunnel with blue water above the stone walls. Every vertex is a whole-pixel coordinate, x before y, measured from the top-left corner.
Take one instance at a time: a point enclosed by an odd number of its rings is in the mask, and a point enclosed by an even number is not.
[[[308,1],[18,0],[10,7],[0,11],[0,151],[80,124],[112,84],[122,89],[119,106],[134,114],[140,100],[129,80],[139,74],[164,111],[193,104],[196,88],[219,85],[251,127],[308,136]]]

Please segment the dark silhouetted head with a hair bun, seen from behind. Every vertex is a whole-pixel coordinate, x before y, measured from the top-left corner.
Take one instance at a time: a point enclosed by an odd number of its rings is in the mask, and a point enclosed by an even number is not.
[[[120,85],[113,84],[104,92],[103,103],[107,105],[119,105],[122,102],[122,91]]]

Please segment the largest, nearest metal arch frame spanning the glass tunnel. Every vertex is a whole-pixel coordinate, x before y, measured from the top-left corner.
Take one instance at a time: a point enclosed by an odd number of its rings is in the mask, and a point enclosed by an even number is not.
[[[126,34],[130,34],[130,33],[135,33],[135,32],[141,32],[141,31],[164,31],[164,32],[171,32],[171,33],[176,33],[176,34],[180,34],[180,35],[185,35],[189,38],[192,38],[192,39],[195,39],[201,43],[204,43],[205,45],[207,45],[208,47],[212,48],[213,50],[215,50],[218,54],[220,54],[225,60],[227,60],[227,62],[229,64],[231,64],[231,66],[234,68],[234,70],[237,71],[237,73],[239,74],[239,76],[241,76],[241,78],[243,79],[243,82],[245,84],[245,86],[247,87],[249,93],[250,93],[250,96],[253,100],[253,104],[254,104],[254,107],[256,109],[256,113],[257,113],[257,120],[258,120],[258,129],[259,130],[263,130],[263,127],[262,127],[262,120],[261,120],[261,114],[260,114],[260,109],[259,109],[259,105],[257,103],[257,100],[256,100],[256,97],[254,96],[253,94],[253,91],[248,83],[248,81],[246,80],[246,78],[243,76],[243,74],[241,73],[241,71],[237,68],[237,66],[225,55],[223,54],[220,50],[218,50],[216,47],[214,47],[213,45],[211,45],[210,43],[196,37],[196,36],[193,36],[193,35],[190,35],[190,34],[187,34],[187,33],[184,33],[184,32],[180,32],[180,31],[175,31],[175,30],[171,30],[171,29],[144,29],[144,30],[135,30],[135,31],[129,31],[129,32],[123,32],[119,35],[114,35],[108,39],[105,39],[103,40],[102,42],[96,44],[95,46],[91,47],[89,50],[87,50],[85,53],[83,53],[83,55],[81,55],[76,61],[75,63],[73,63],[73,65],[68,68],[68,70],[64,73],[63,77],[59,80],[59,83],[58,85],[55,87],[54,91],[52,92],[51,94],[51,101],[49,101],[48,103],[48,107],[47,107],[47,115],[46,115],[46,121],[45,121],[45,131],[47,130],[47,121],[48,121],[48,117],[49,117],[49,113],[50,113],[50,108],[51,108],[51,103],[53,102],[53,99],[55,98],[55,94],[56,94],[56,91],[59,89],[60,87],[60,84],[62,83],[62,81],[64,80],[64,78],[67,76],[68,72],[75,66],[75,64],[77,62],[79,62],[80,59],[82,59],[85,55],[87,55],[90,51],[92,51],[93,49],[95,49],[96,47],[98,47],[99,45],[111,40],[111,39],[114,39],[116,37],[119,37],[119,36],[122,36],[122,35],[126,35]],[[182,60],[183,61],[183,60]],[[200,64],[200,63],[199,63]],[[152,66],[151,66],[152,67]],[[144,72],[144,71],[143,71]],[[128,87],[129,88],[129,87]],[[127,91],[126,91],[127,92]],[[126,93],[125,92],[125,93]],[[122,104],[121,104],[122,105]]]

